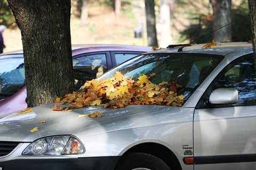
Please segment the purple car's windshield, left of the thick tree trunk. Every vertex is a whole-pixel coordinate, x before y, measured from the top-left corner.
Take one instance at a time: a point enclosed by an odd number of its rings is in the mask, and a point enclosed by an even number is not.
[[[21,56],[21,57],[19,57]],[[9,97],[25,85],[25,67],[23,55],[0,57],[0,97]],[[1,99],[0,98],[0,99]]]

